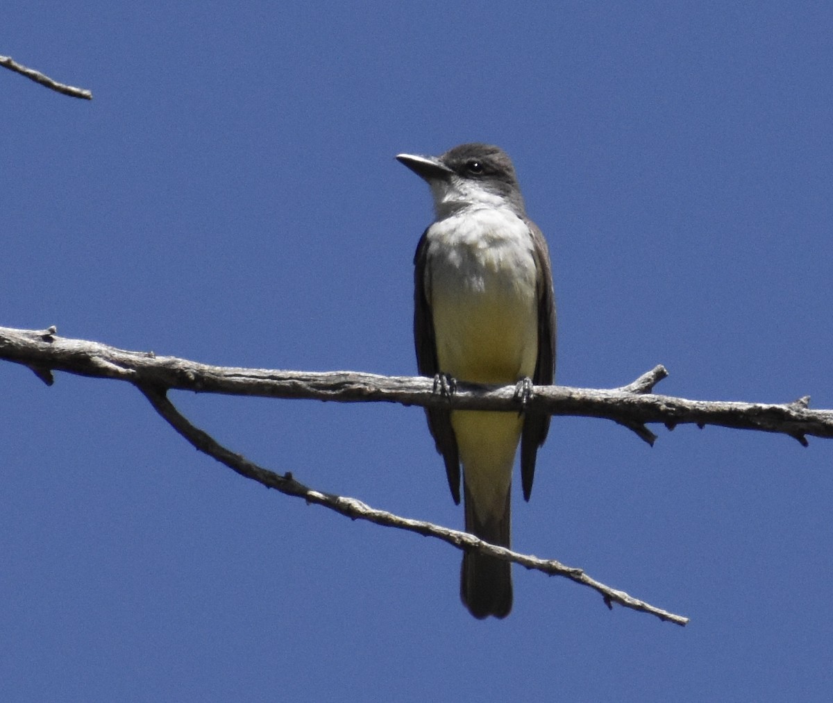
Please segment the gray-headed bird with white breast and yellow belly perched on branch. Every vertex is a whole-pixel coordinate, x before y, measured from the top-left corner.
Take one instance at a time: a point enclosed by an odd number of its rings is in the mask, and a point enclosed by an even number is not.
[[[397,160],[427,182],[435,212],[414,257],[421,376],[433,376],[435,388],[451,394],[456,381],[514,383],[522,399],[532,384],[551,385],[556,308],[550,255],[541,230],[526,216],[510,157],[478,142],[439,157],[402,153]],[[517,446],[528,501],[550,416],[445,406],[426,408],[426,416],[458,505],[462,466],[466,531],[509,548]],[[509,615],[510,562],[464,551],[460,596],[478,620]]]

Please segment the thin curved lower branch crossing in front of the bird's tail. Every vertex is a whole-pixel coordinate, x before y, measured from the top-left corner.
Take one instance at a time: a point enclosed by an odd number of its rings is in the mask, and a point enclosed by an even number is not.
[[[645,601],[640,601],[629,596],[625,591],[616,591],[610,586],[596,581],[591,576],[587,576],[581,569],[565,566],[560,561],[539,559],[536,556],[519,554],[505,547],[491,545],[467,532],[451,530],[431,522],[412,520],[407,517],[394,515],[391,512],[377,510],[371,506],[367,506],[362,501],[357,501],[355,498],[314,491],[296,481],[290,473],[281,476],[273,471],[268,471],[261,466],[257,466],[252,461],[247,460],[245,456],[235,454],[233,451],[219,444],[207,432],[200,430],[198,427],[193,426],[191,422],[187,421],[187,418],[182,416],[177,411],[177,408],[173,406],[172,402],[167,399],[164,390],[148,386],[139,387],[157,412],[199,451],[206,453],[208,456],[212,456],[217,461],[228,466],[232,471],[237,471],[241,476],[246,476],[253,481],[257,481],[263,486],[267,486],[267,488],[275,488],[287,496],[304,498],[309,503],[325,506],[353,520],[367,520],[375,522],[377,525],[397,527],[400,530],[416,532],[418,535],[436,537],[436,539],[447,542],[459,549],[475,549],[476,551],[496,556],[498,559],[503,559],[504,561],[514,561],[516,564],[526,566],[527,569],[543,571],[545,574],[551,576],[564,576],[565,578],[571,579],[571,581],[580,583],[582,586],[589,586],[600,593],[608,607],[611,607],[612,603],[619,603],[626,608],[649,613],[663,621],[671,621],[680,626],[685,626],[689,621],[687,617],[661,610],[661,608],[651,606]]]

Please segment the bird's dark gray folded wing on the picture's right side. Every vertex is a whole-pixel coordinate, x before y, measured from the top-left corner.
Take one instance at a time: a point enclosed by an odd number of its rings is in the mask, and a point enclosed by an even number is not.
[[[551,386],[556,371],[556,302],[552,292],[552,267],[546,240],[535,222],[524,218],[532,237],[535,264],[538,269],[538,359],[532,382],[536,386]],[[528,501],[535,477],[538,447],[546,440],[550,416],[526,413],[521,432],[521,486]]]

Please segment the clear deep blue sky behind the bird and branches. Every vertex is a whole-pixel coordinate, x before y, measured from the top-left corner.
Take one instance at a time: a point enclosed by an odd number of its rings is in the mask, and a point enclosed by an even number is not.
[[[425,185],[504,147],[548,238],[557,380],[833,407],[826,2],[12,3],[0,325],[233,366],[415,372]],[[172,394],[323,491],[462,525],[422,412]],[[833,443],[558,418],[519,551],[691,617],[266,491],[126,384],[0,364],[8,701],[822,701]],[[520,491],[516,491],[519,494]]]

